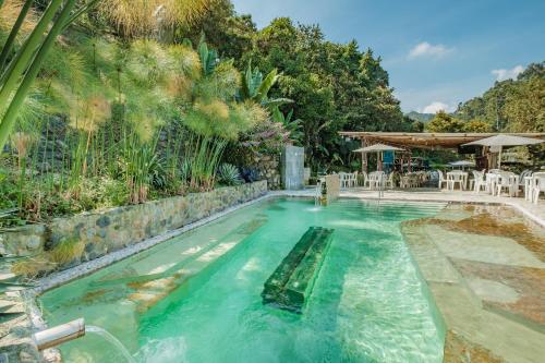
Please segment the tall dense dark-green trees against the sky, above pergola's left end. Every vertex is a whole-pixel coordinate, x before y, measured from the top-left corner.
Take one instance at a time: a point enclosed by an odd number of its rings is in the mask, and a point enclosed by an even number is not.
[[[245,78],[259,70],[281,75],[269,98],[293,99],[293,117],[300,121],[307,164],[315,169],[351,156],[341,147],[342,130],[395,131],[403,124],[399,101],[388,85],[380,58],[358,44],[327,41],[318,26],[294,26],[277,19],[253,37],[244,55]],[[274,107],[271,107],[274,109]]]

